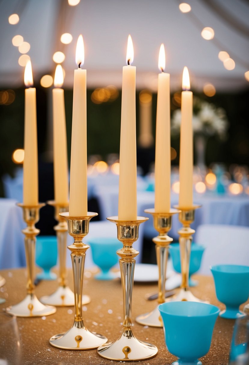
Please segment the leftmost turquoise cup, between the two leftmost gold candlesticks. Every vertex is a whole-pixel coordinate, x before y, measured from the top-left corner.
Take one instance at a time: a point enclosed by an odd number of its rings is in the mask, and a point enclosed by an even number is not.
[[[38,236],[35,246],[35,262],[42,269],[36,278],[39,280],[55,280],[57,275],[51,272],[51,268],[57,262],[57,238],[56,236]]]

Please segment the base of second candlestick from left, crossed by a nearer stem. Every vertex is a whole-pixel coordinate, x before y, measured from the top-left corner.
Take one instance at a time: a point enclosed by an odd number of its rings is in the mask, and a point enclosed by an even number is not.
[[[44,304],[53,305],[56,307],[71,307],[74,306],[74,293],[68,286],[58,287],[51,295],[46,295],[40,298]],[[89,295],[82,296],[82,304],[90,303]]]

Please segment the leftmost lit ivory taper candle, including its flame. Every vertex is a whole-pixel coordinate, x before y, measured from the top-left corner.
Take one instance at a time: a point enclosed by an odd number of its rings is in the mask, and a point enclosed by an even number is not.
[[[32,66],[28,61],[24,71],[24,161],[23,161],[23,204],[38,204],[38,151],[36,90],[33,86]]]

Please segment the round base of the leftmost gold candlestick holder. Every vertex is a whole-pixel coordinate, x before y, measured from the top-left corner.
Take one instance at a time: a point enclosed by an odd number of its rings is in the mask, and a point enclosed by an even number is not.
[[[33,293],[28,294],[20,303],[6,310],[17,317],[42,317],[56,312],[55,307],[44,306]]]

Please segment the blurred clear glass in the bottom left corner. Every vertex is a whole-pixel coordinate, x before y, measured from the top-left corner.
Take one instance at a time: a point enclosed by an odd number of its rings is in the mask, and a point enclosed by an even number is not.
[[[7,313],[0,313],[0,364],[22,364],[22,346],[16,317]]]

